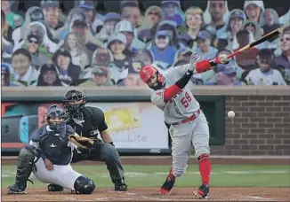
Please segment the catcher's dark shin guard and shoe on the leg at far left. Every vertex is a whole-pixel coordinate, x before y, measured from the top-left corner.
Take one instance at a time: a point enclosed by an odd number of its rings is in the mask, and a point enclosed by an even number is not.
[[[36,148],[25,146],[18,155],[17,172],[15,183],[8,187],[7,194],[24,194],[27,182],[31,182],[28,177],[34,166],[34,159],[37,155]]]

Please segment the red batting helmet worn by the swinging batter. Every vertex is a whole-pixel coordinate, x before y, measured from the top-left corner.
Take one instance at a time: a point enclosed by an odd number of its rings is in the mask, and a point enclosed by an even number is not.
[[[154,66],[143,66],[139,72],[141,80],[143,82],[148,82],[149,79],[154,75],[157,74],[157,86],[155,87],[151,87],[149,86],[149,88],[151,89],[161,89],[163,84],[164,84],[164,77],[162,74],[160,74],[157,70],[157,68],[155,68]]]

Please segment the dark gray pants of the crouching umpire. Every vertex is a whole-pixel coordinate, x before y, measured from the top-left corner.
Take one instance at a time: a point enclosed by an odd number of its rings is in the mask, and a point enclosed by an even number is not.
[[[124,178],[124,169],[121,164],[119,153],[112,144],[100,142],[100,144],[97,144],[96,147],[91,150],[81,150],[80,152],[75,150],[72,163],[82,160],[105,162],[113,183]]]

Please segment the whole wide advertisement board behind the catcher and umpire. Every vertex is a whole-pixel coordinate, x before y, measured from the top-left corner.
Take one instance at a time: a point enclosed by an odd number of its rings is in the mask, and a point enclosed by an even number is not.
[[[2,103],[1,147],[19,151],[34,130],[44,124],[50,105],[60,103]],[[151,103],[88,103],[105,113],[109,134],[117,149],[138,152],[168,150],[168,131],[163,113]],[[62,105],[61,105],[62,106]]]

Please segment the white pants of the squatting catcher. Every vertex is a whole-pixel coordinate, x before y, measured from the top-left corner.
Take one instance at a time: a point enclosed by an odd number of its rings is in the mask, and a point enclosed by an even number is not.
[[[33,174],[42,183],[58,184],[68,190],[75,190],[74,184],[81,175],[74,171],[70,164],[66,166],[53,165],[53,170],[48,170],[42,158],[37,160],[36,170],[33,169]]]

